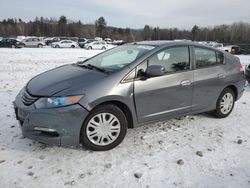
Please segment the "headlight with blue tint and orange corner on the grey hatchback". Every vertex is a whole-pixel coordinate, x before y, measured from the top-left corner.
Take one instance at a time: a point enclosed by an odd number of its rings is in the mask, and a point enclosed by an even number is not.
[[[66,96],[66,97],[50,97],[40,98],[35,102],[36,108],[56,108],[61,106],[68,106],[78,103],[83,95]]]

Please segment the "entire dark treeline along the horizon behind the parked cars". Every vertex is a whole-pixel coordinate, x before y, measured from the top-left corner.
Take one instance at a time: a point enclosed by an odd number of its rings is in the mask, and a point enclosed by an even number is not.
[[[217,41],[221,43],[250,43],[250,23],[238,22],[231,25],[215,27],[198,27],[191,30],[178,28],[162,29],[145,25],[143,29],[116,28],[107,26],[105,18],[98,18],[93,24],[75,22],[65,16],[56,18],[36,17],[34,21],[24,22],[22,19],[4,19],[0,21],[0,36],[61,36],[85,38],[112,38],[127,42],[140,40],[174,40],[187,39],[196,41]]]

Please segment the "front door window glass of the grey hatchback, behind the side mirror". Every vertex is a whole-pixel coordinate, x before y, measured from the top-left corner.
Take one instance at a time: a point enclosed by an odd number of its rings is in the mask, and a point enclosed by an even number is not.
[[[161,65],[166,73],[189,70],[189,48],[182,46],[163,50],[148,59],[148,66],[150,65]]]

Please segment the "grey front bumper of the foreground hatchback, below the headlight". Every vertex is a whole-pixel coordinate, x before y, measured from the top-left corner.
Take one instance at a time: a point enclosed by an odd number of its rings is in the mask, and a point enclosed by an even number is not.
[[[26,106],[21,100],[21,92],[14,108],[23,136],[49,145],[77,146],[88,115],[88,111],[78,104],[51,109],[36,109],[34,104]]]

